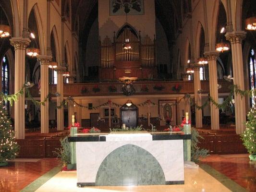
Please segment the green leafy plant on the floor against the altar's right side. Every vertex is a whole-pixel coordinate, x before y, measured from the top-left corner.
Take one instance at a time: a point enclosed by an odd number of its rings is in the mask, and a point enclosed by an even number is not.
[[[199,158],[204,158],[208,156],[209,151],[207,149],[200,149],[197,144],[199,142],[199,138],[204,139],[199,133],[195,130],[195,128],[191,127],[191,161],[197,163]]]

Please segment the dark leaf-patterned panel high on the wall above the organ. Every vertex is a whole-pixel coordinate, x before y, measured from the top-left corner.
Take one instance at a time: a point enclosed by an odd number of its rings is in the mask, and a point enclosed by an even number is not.
[[[143,15],[144,0],[110,0],[110,15]]]

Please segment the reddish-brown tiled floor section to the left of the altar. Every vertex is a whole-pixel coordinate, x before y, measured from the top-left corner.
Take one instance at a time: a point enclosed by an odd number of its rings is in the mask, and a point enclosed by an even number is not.
[[[56,158],[37,162],[9,162],[7,167],[0,167],[0,192],[19,192],[58,165]]]

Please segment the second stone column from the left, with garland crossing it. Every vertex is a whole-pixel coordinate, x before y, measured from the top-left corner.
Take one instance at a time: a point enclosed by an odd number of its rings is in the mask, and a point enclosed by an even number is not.
[[[41,102],[49,94],[49,61],[51,56],[39,55],[37,60],[40,62],[40,83],[41,83]],[[49,133],[49,100],[45,102],[45,105],[40,106],[41,109],[41,133]]]

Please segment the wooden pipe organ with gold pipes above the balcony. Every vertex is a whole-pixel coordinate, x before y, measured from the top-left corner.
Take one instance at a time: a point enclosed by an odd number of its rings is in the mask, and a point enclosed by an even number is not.
[[[124,49],[126,42],[130,49]],[[156,39],[141,37],[126,25],[117,35],[99,38],[99,78],[118,79],[120,77],[153,78],[157,76]]]

